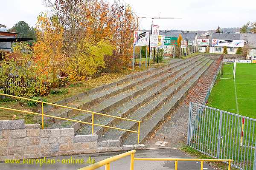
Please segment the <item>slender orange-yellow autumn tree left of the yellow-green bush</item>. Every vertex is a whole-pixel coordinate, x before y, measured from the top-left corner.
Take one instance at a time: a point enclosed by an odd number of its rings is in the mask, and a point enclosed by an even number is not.
[[[63,32],[58,17],[38,16],[37,42],[34,45],[36,73],[48,82],[55,82],[58,73],[64,68],[66,57],[63,54]]]

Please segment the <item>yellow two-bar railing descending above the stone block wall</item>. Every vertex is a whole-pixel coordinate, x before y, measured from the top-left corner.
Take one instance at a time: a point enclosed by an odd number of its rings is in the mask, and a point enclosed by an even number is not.
[[[108,128],[117,129],[117,130],[124,130],[124,131],[128,131],[128,132],[133,132],[133,133],[138,133],[138,143],[140,143],[140,123],[141,123],[141,121],[133,120],[133,119],[127,119],[127,118],[118,117],[118,116],[112,116],[112,115],[103,114],[103,113],[97,113],[97,112],[93,112],[93,111],[87,111],[87,110],[78,109],[78,108],[72,108],[72,107],[63,106],[63,105],[57,105],[57,104],[54,104],[54,103],[48,103],[48,102],[43,102],[43,101],[39,101],[39,100],[28,99],[28,98],[19,97],[19,96],[13,96],[13,95],[9,95],[9,94],[0,94],[0,96],[14,97],[16,99],[25,99],[25,100],[41,103],[41,113],[22,111],[22,110],[17,110],[17,109],[12,109],[12,108],[5,108],[5,107],[0,107],[0,109],[5,109],[5,110],[9,110],[9,111],[17,111],[17,112],[21,112],[21,113],[30,113],[30,114],[40,115],[40,116],[42,116],[42,129],[44,129],[44,116],[46,116],[46,117],[51,117],[51,118],[55,118],[55,119],[62,119],[62,120],[67,120],[67,121],[79,122],[79,123],[84,123],[84,124],[87,124],[87,125],[92,125],[92,134],[94,132],[93,131],[94,130],[94,125],[95,126],[101,126],[101,127],[108,127]],[[53,106],[57,106],[57,107],[61,107],[61,108],[74,109],[76,111],[82,111],[82,112],[85,112],[85,113],[91,113],[92,114],[92,123],[44,114],[44,104],[46,104],[46,105],[53,105]],[[138,122],[138,131],[122,129],[122,128],[118,128],[118,127],[111,127],[111,126],[106,126],[106,125],[95,124],[94,123],[94,114],[101,115],[101,116],[114,117],[114,118],[117,118],[117,119],[122,119],[122,120],[127,120],[127,121],[132,121],[132,122]]]

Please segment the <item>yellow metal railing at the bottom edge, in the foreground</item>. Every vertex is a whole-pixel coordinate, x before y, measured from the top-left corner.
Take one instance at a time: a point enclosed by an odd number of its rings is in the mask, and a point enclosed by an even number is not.
[[[80,168],[78,170],[95,170],[102,166],[105,166],[105,170],[110,170],[111,162],[117,161],[126,156],[131,156],[130,170],[134,170],[134,161],[175,161],[175,170],[178,169],[178,161],[200,161],[201,162],[200,170],[204,169],[204,161],[228,161],[228,170],[231,170],[231,162],[233,161],[232,159],[135,158],[134,157],[135,152],[136,150],[131,150],[131,151],[113,156],[111,158],[104,159],[95,164],[91,164],[87,167]],[[122,167],[119,167],[119,169],[121,168]]]

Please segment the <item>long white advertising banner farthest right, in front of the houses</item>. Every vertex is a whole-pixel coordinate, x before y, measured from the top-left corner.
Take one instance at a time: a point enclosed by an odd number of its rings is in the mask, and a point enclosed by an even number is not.
[[[218,40],[212,39],[214,47],[244,47],[244,40]]]

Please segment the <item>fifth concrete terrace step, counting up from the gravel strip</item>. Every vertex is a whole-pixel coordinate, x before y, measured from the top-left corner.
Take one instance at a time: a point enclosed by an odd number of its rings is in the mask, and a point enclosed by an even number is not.
[[[200,56],[197,56],[191,59],[178,60],[178,61],[172,62],[163,68],[154,69],[154,71],[150,71],[148,72],[148,74],[144,74],[143,76],[140,75],[140,77],[133,77],[133,79],[131,79],[130,81],[127,80],[126,82],[122,81],[122,83],[121,82],[111,83],[108,85],[108,88],[104,86],[105,90],[102,90],[102,89],[98,89],[97,91],[95,90],[95,92],[92,94],[85,95],[81,99],[77,99],[72,102],[69,102],[67,106],[80,108],[80,109],[90,109],[91,107],[99,104],[105,99],[108,99],[116,94],[127,91],[131,88],[134,88],[135,86],[140,85],[141,83],[148,81],[152,78],[155,78],[157,76],[165,74],[166,72],[171,71],[172,69],[175,69],[180,65],[196,60],[198,59],[198,57]],[[112,85],[112,84],[115,84],[115,85]],[[56,108],[56,109],[52,109],[47,114],[67,118],[78,113],[79,111],[76,111],[73,109]],[[59,122],[59,121],[60,119],[55,119],[55,122]]]

